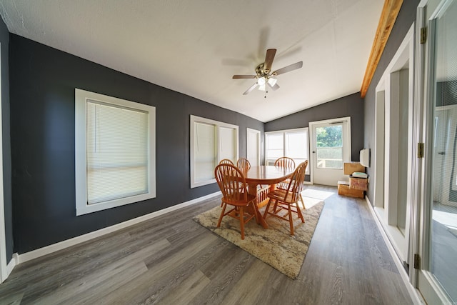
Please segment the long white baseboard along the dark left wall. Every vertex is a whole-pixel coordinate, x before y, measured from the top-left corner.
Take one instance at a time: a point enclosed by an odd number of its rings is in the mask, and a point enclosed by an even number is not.
[[[206,196],[203,196],[203,197],[199,197],[197,199],[193,199],[193,200],[190,200],[190,201],[186,201],[182,204],[176,204],[175,206],[170,206],[166,209],[161,209],[159,211],[155,211],[155,212],[152,212],[150,214],[146,214],[146,215],[143,215],[143,216],[139,216],[139,217],[136,217],[135,219],[130,219],[128,221],[124,221],[124,222],[121,222],[119,224],[114,224],[113,226],[107,226],[106,228],[103,228],[103,229],[99,229],[99,230],[96,230],[96,231],[92,231],[90,233],[87,233],[87,234],[84,234],[84,235],[80,235],[80,236],[76,236],[72,239],[66,239],[65,241],[60,241],[56,244],[51,244],[49,246],[45,246],[43,248],[40,248],[40,249],[36,249],[36,250],[33,250],[33,251],[29,251],[29,252],[26,252],[26,253],[23,253],[23,254],[14,254],[13,256],[13,259],[11,259],[10,263],[8,264],[8,270],[9,268],[11,268],[11,271],[13,270],[14,266],[16,266],[17,264],[21,264],[21,263],[24,263],[26,261],[30,261],[32,259],[37,259],[41,256],[44,256],[44,255],[47,255],[47,254],[51,254],[51,253],[54,253],[56,251],[60,251],[62,249],[66,249],[70,246],[74,246],[76,244],[81,244],[85,241],[89,241],[91,239],[95,239],[97,237],[100,237],[100,236],[104,236],[105,234],[109,234],[109,233],[112,233],[114,231],[118,231],[120,229],[124,229],[128,226],[133,226],[134,224],[139,224],[140,222],[142,221],[146,221],[146,220],[149,220],[149,219],[153,219],[157,216],[161,216],[161,215],[164,215],[166,213],[169,213],[171,211],[176,211],[178,209],[182,209],[186,206],[190,206],[192,204],[197,204],[201,201],[204,201],[206,199],[210,199],[214,196],[218,196],[221,194],[221,191],[217,191],[216,193],[213,193],[213,194],[209,194],[209,195],[206,195]],[[12,265],[12,266],[10,266]],[[9,271],[11,273],[11,271]]]

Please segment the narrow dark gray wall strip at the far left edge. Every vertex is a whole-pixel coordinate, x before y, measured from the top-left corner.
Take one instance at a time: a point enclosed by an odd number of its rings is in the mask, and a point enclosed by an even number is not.
[[[3,193],[5,207],[6,261],[13,257],[13,213],[11,202],[11,141],[9,139],[9,31],[0,18],[1,129],[3,144]]]

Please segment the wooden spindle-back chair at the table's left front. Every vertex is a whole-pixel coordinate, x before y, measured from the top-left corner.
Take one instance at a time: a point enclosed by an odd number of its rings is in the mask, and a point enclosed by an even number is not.
[[[231,216],[240,221],[241,239],[244,239],[244,224],[253,218],[257,219],[256,196],[248,194],[246,179],[238,167],[231,164],[219,164],[214,169],[217,184],[222,192],[222,211],[219,216],[217,227],[221,226],[224,216]],[[226,211],[227,206],[231,206]],[[248,213],[251,206],[253,214]]]

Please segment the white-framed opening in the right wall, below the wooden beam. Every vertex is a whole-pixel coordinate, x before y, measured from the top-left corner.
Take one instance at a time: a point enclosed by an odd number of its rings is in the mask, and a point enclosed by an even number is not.
[[[398,258],[410,263],[410,221],[413,196],[407,190],[413,184],[413,81],[414,81],[414,26],[408,30],[396,54],[383,72],[376,86],[375,113],[375,160],[373,206]],[[407,70],[406,70],[407,69]],[[406,71],[408,73],[406,73]],[[407,89],[405,90],[405,84]],[[406,99],[407,96],[407,99]],[[406,101],[408,134],[400,134],[403,119],[400,117],[400,101]],[[402,104],[402,106],[405,106]],[[404,115],[404,114],[403,114]],[[404,124],[403,124],[404,127]],[[406,129],[401,129],[405,131]],[[406,151],[398,151],[398,143],[404,139]],[[410,141],[411,139],[411,141]],[[405,142],[403,142],[405,143]],[[406,164],[406,177],[400,166]],[[406,196],[405,195],[406,192]],[[406,206],[405,206],[406,205]],[[405,210],[400,209],[405,207]],[[400,214],[398,214],[401,212]],[[398,229],[404,221],[404,231]]]

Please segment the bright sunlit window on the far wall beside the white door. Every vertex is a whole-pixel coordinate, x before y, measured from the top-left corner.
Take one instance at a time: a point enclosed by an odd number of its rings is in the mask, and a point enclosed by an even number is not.
[[[309,159],[308,128],[266,132],[265,138],[266,165],[273,165],[281,156],[292,158],[296,165]]]

